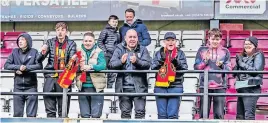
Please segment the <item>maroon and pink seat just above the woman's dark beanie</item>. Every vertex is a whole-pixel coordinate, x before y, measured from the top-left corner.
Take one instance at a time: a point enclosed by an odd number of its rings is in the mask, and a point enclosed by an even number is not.
[[[229,31],[230,47],[231,48],[243,48],[244,41],[250,36],[250,31]]]

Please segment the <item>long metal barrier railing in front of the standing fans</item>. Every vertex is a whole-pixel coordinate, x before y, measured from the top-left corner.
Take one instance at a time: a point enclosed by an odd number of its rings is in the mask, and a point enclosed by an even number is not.
[[[35,70],[33,73],[60,73],[62,70]],[[87,71],[89,73],[157,73],[157,70],[103,70],[103,71]],[[1,73],[14,73],[10,70],[1,70]],[[208,119],[208,96],[260,96],[268,97],[268,93],[253,94],[253,93],[208,93],[208,74],[209,73],[255,73],[255,74],[268,74],[268,71],[219,71],[219,70],[183,70],[177,71],[177,73],[204,73],[204,93],[81,93],[81,92],[68,92],[68,89],[63,89],[63,92],[1,92],[1,95],[51,95],[51,96],[63,96],[62,101],[62,117],[67,117],[67,96],[202,96],[203,97],[203,116],[204,119]]]

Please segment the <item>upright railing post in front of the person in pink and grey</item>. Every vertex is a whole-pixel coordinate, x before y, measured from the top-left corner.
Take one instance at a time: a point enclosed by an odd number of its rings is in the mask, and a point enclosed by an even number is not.
[[[204,71],[203,118],[208,118],[208,70]]]

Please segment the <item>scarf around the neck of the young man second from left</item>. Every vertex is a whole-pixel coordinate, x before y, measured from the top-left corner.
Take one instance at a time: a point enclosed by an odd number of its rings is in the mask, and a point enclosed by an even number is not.
[[[63,70],[65,68],[65,50],[66,50],[66,41],[63,42],[63,46],[61,48],[61,52],[59,53],[59,41],[55,42],[55,56],[54,56],[54,69],[55,70]],[[60,54],[60,55],[59,55]],[[60,63],[59,63],[60,58]],[[60,66],[59,66],[60,65]],[[52,77],[58,77],[59,74],[55,73]]]

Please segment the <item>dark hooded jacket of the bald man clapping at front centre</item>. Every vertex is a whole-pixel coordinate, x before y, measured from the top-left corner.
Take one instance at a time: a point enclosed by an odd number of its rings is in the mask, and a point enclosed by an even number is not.
[[[132,64],[126,61],[124,64],[121,62],[121,57],[125,54],[136,55],[136,62]],[[129,51],[126,43],[122,42],[118,44],[112,59],[110,60],[109,66],[115,70],[149,70],[151,65],[151,57],[148,50],[144,46],[139,44],[133,51]],[[108,83],[112,84],[112,83]],[[118,73],[115,84],[115,92],[123,92],[123,87],[126,85],[134,86],[137,93],[148,92],[147,74],[145,73]]]

